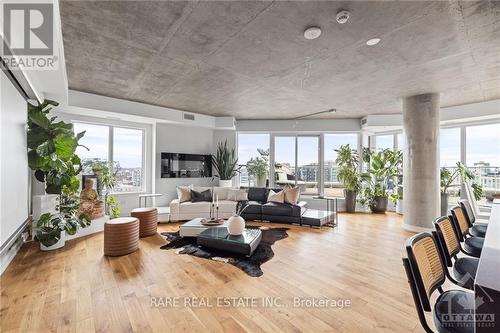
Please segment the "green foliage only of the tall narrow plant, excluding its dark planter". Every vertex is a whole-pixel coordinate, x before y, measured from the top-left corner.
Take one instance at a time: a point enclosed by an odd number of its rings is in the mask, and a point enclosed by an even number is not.
[[[343,184],[346,191],[359,192],[361,190],[361,176],[358,172],[359,155],[349,145],[342,145],[335,149],[337,158],[335,163],[339,166],[337,179]]]

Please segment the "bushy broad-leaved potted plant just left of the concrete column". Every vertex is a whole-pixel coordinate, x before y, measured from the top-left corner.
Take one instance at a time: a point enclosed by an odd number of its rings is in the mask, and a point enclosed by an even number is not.
[[[361,174],[364,185],[359,202],[370,207],[373,213],[385,213],[390,188],[394,188],[394,178],[400,174],[403,160],[401,151],[383,149],[379,152],[365,148],[363,161],[368,164],[368,170]],[[398,200],[397,192],[392,192],[392,200]]]

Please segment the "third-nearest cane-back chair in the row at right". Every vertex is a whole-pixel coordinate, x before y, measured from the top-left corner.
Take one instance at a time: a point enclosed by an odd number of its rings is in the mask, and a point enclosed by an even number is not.
[[[451,219],[455,224],[455,230],[460,243],[460,249],[463,253],[479,258],[483,249],[484,238],[472,236],[469,232],[470,225],[465,217],[462,207],[455,206],[451,209]]]

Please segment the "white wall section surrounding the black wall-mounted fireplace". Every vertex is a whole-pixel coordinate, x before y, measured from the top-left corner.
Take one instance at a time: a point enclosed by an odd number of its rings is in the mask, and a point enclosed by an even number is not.
[[[177,197],[177,185],[211,186],[218,179],[212,178],[161,178],[161,153],[212,154],[214,130],[171,124],[156,125],[156,171],[155,192],[163,196],[156,199],[156,206],[168,206]]]

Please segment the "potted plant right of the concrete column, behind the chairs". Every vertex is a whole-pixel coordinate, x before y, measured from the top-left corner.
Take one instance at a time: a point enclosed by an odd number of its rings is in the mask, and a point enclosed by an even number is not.
[[[450,193],[449,190],[452,187],[458,186],[454,184],[458,179],[462,182],[468,182],[474,179],[474,174],[465,165],[457,162],[457,166],[454,170],[450,168],[441,168],[440,170],[440,187],[441,187],[441,215],[446,216],[448,214],[448,202]],[[479,200],[483,195],[483,189],[480,185],[473,183],[472,189],[474,192],[474,198]]]

